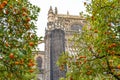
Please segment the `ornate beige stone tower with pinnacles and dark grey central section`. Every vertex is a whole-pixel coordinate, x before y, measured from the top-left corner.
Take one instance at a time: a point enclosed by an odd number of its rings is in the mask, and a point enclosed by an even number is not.
[[[48,23],[45,30],[45,80],[59,80],[65,77],[65,71],[60,71],[56,61],[62,52],[70,51],[68,39],[75,32],[80,32],[86,24],[81,16],[58,14],[58,10],[50,7],[48,11]]]

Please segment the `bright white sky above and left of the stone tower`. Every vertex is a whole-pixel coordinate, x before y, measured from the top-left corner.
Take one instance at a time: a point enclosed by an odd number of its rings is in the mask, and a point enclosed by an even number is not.
[[[29,0],[32,4],[40,8],[37,25],[37,35],[45,35],[45,27],[47,27],[47,14],[50,6],[54,10],[55,7],[58,9],[58,14],[79,15],[81,11],[85,11],[84,1],[85,0]],[[39,45],[40,50],[44,50],[44,44]]]

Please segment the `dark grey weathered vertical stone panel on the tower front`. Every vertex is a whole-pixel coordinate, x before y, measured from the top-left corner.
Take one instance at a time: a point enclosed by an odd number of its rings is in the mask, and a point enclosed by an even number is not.
[[[55,29],[51,31],[50,38],[50,80],[59,80],[60,77],[65,77],[65,71],[60,71],[56,65],[59,56],[65,51],[65,33],[63,30]]]

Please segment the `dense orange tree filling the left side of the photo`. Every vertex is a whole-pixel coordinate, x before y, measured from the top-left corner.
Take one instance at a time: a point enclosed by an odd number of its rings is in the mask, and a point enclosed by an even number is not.
[[[0,80],[34,78],[39,10],[28,0],[0,0]]]

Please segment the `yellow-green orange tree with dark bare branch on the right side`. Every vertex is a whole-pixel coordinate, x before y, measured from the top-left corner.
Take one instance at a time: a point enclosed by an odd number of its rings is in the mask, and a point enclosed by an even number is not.
[[[60,69],[68,67],[61,80],[120,80],[120,0],[91,0],[84,5],[90,26],[71,39],[75,53],[59,58]]]

